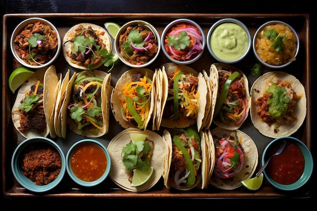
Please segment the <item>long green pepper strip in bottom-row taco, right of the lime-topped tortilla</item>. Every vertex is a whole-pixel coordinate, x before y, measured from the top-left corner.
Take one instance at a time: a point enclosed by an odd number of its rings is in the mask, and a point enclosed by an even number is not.
[[[186,168],[189,171],[188,179],[186,182],[186,185],[191,186],[195,184],[195,172],[194,172],[194,165],[192,164],[192,161],[190,159],[190,156],[185,149],[185,147],[182,145],[182,140],[178,138],[178,136],[173,137],[173,142],[176,144],[178,150],[180,150],[183,153],[184,159],[186,161]]]

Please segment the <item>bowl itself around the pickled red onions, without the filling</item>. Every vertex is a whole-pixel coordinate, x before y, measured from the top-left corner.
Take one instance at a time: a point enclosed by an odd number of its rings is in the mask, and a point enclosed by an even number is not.
[[[200,49],[194,50],[194,51],[197,51],[197,53],[192,54],[189,58],[174,59],[171,57],[170,53],[168,53],[165,49],[165,40],[167,39],[166,37],[171,32],[172,28],[175,27],[177,24],[181,24],[181,23],[191,24],[199,30],[201,37],[199,39],[197,39],[196,46],[199,46]],[[176,32],[174,35],[177,36],[179,33],[180,32]],[[189,36],[189,35],[193,36],[192,34],[187,33],[187,36]],[[196,61],[197,59],[199,59],[203,55],[204,50],[205,50],[205,46],[206,46],[206,36],[205,36],[205,33],[204,33],[202,27],[199,24],[197,24],[196,22],[194,22],[190,19],[181,18],[181,19],[177,19],[177,20],[172,21],[164,28],[164,30],[162,32],[162,36],[161,36],[161,44],[162,44],[163,53],[171,62],[174,62],[176,64],[186,65],[186,64],[190,64],[190,63]],[[191,50],[186,50],[186,51],[190,52]]]

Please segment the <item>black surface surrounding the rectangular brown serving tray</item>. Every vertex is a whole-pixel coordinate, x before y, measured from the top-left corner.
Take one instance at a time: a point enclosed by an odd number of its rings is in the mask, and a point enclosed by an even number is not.
[[[225,0],[6,0],[0,5],[1,15],[9,13],[270,13],[270,14],[309,14],[310,15],[310,49],[311,49],[311,76],[315,70],[315,32],[316,10],[313,1],[225,1]],[[3,24],[3,20],[1,19]],[[2,40],[2,31],[0,32]],[[313,82],[313,81],[312,81]],[[308,96],[310,97],[310,96]],[[312,154],[315,150],[312,139]],[[315,171],[314,171],[315,172]],[[315,173],[312,176],[315,184]],[[2,179],[1,179],[2,181]],[[105,199],[105,198],[5,198],[0,199],[0,210],[97,210],[97,209],[160,209],[176,207],[182,209],[264,209],[278,207],[309,208],[315,198],[314,190],[308,199]],[[172,208],[172,207],[171,207]],[[294,207],[295,208],[295,207]],[[275,209],[275,208],[274,208]]]

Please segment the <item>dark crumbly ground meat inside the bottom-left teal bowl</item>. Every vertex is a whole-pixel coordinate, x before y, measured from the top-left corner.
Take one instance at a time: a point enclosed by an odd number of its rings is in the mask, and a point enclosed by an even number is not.
[[[60,154],[50,146],[29,147],[22,154],[21,168],[35,185],[47,185],[61,172]]]

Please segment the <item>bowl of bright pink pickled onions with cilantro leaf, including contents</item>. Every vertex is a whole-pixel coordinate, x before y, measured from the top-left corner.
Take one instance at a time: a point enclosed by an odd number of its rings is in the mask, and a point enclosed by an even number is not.
[[[206,37],[199,24],[190,19],[169,23],[161,35],[162,51],[176,64],[190,64],[199,59],[206,46]]]

